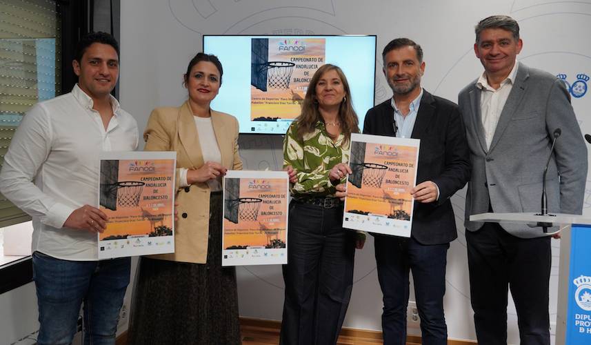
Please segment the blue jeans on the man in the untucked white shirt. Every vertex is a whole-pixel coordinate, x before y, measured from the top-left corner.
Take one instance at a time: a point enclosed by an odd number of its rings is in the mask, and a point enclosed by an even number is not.
[[[32,257],[41,324],[37,344],[71,344],[82,303],[84,344],[115,344],[130,258],[68,261],[39,252]]]

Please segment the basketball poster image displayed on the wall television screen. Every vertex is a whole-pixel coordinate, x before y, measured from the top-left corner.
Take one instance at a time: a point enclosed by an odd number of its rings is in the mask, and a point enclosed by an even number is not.
[[[252,39],[250,119],[295,119],[314,72],[324,64],[323,38]]]

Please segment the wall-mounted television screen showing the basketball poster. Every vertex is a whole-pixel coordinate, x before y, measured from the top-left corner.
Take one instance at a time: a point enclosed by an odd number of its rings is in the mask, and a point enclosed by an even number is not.
[[[217,55],[223,66],[212,108],[237,117],[241,133],[285,134],[312,75],[325,63],[345,73],[360,127],[374,106],[375,35],[204,35],[203,52]]]

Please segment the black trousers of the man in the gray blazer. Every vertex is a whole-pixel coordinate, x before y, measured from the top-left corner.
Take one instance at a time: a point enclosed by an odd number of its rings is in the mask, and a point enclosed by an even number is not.
[[[550,237],[522,239],[496,223],[466,231],[465,237],[478,344],[507,344],[510,288],[521,345],[549,345]]]

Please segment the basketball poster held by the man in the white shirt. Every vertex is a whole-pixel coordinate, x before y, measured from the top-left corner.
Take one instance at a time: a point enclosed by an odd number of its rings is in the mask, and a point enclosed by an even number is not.
[[[99,259],[174,253],[177,152],[103,152]]]

